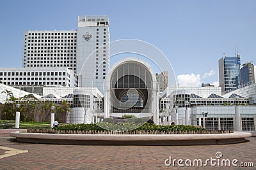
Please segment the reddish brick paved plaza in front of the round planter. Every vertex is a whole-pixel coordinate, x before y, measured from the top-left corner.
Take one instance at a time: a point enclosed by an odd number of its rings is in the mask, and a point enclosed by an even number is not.
[[[256,166],[255,137],[246,138],[245,143],[208,146],[45,145],[17,143],[14,139],[0,131],[0,169],[255,169]],[[253,162],[254,167],[218,166],[216,152],[222,154],[220,162],[237,159],[237,165]],[[201,159],[203,164],[212,157],[216,166],[207,162],[207,167],[193,164],[180,167],[177,161],[175,166],[166,166],[164,161],[170,156],[172,161]]]

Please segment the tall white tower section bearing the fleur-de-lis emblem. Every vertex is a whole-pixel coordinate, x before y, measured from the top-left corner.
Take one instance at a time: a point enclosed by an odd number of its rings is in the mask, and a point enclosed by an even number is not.
[[[109,71],[108,16],[79,16],[77,29],[77,74],[79,87],[97,87]]]

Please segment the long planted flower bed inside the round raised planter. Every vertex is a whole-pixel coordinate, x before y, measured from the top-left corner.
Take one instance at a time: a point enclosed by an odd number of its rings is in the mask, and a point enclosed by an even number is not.
[[[102,127],[108,127],[106,130]],[[127,129],[134,130],[127,131]],[[137,128],[136,128],[137,127]],[[206,131],[201,127],[191,125],[156,125],[156,124],[66,124],[53,129],[28,129],[28,132],[53,133],[53,134],[222,134],[233,131]]]

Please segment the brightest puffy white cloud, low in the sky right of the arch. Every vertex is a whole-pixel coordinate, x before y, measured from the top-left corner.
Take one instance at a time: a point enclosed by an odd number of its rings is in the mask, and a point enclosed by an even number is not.
[[[177,76],[180,87],[198,87],[201,85],[200,74],[181,74]]]

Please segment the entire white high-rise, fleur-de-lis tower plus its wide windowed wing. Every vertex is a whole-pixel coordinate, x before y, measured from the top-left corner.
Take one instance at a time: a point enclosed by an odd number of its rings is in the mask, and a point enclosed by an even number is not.
[[[101,92],[109,70],[108,16],[79,16],[71,31],[24,31],[22,67],[70,67]]]

